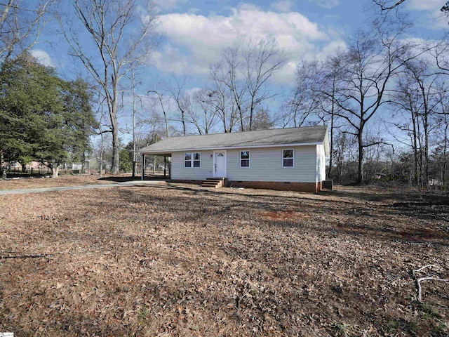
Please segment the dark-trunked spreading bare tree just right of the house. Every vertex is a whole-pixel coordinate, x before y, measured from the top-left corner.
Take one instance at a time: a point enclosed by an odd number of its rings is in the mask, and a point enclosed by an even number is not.
[[[399,22],[376,22],[373,31],[358,32],[349,43],[337,71],[335,104],[340,112],[335,115],[349,126],[347,133],[357,139],[358,169],[356,183],[363,183],[363,159],[367,147],[382,143],[366,141],[366,124],[373,119],[384,103],[388,102],[388,84],[402,65],[413,56],[404,58],[408,46],[399,43],[406,25]],[[391,33],[394,31],[395,33]],[[330,93],[326,93],[330,98]]]

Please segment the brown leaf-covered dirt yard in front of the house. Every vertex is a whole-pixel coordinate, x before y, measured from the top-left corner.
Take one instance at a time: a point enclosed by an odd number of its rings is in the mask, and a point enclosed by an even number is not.
[[[445,195],[169,183],[0,209],[15,336],[449,336],[449,283],[420,282],[420,303],[412,272],[449,279]]]

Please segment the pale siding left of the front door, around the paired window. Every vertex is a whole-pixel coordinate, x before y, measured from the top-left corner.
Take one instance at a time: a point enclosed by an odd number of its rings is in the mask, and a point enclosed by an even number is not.
[[[201,153],[201,167],[184,167],[184,153],[173,152],[171,156],[171,178],[180,180],[204,180],[212,177],[213,151]],[[189,152],[192,153],[192,152]]]

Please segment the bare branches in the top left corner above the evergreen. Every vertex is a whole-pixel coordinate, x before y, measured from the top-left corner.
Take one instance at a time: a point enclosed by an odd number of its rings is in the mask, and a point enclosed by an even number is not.
[[[1,60],[29,51],[36,44],[50,20],[46,14],[54,3],[55,0],[40,0],[36,4],[8,0],[0,4]]]

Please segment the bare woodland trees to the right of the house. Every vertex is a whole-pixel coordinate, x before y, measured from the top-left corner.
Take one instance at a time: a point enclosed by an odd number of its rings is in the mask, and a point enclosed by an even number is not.
[[[447,185],[448,40],[410,41],[408,28],[382,16],[346,50],[297,69],[284,119],[330,126],[327,174],[338,182]]]

